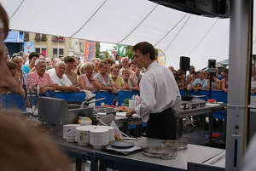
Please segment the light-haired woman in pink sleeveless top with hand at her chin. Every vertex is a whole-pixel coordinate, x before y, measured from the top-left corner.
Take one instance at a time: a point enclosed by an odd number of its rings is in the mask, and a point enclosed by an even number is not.
[[[80,67],[79,87],[86,90],[99,90],[101,84],[96,77],[93,77],[94,65],[91,62],[87,62]]]

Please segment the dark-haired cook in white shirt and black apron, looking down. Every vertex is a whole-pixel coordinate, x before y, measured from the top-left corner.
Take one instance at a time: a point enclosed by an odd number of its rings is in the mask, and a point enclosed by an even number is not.
[[[172,109],[178,110],[181,96],[171,71],[155,60],[152,44],[143,42],[133,47],[134,62],[139,68],[146,68],[140,82],[141,104],[129,109],[126,117],[137,113],[148,122],[147,136],[161,140],[176,140],[176,124]]]

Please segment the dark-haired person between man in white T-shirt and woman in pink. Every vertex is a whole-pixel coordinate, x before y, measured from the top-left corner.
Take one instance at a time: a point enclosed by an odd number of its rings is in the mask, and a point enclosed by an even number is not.
[[[75,71],[73,71],[73,65],[75,62],[75,59],[71,56],[67,56],[64,59],[64,62],[66,64],[65,74],[68,77],[68,79],[73,83],[73,85],[78,85],[78,75]]]

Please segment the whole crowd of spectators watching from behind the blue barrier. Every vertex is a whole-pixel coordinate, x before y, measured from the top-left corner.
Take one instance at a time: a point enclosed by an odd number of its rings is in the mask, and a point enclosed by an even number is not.
[[[83,64],[76,56],[50,58],[36,52],[32,52],[27,58],[28,64],[26,64],[26,54],[19,52],[13,54],[10,59],[7,58],[12,63],[6,63],[17,83],[14,93],[22,96],[27,88],[32,90],[38,88],[40,94],[52,90],[79,92],[81,89],[98,92],[108,90],[112,94],[125,89],[139,91],[140,80],[146,71],[138,68],[137,64],[127,57],[123,57],[120,64],[116,64],[113,59],[99,58]],[[227,68],[220,73],[218,68],[215,72],[209,73],[195,71],[195,66],[189,66],[189,74],[182,70],[176,71],[173,66],[169,66],[168,69],[172,71],[180,90],[197,92],[199,89],[207,90],[211,87],[228,92],[229,70]],[[254,73],[254,66],[252,71]],[[255,92],[256,75],[252,74],[252,94]]]

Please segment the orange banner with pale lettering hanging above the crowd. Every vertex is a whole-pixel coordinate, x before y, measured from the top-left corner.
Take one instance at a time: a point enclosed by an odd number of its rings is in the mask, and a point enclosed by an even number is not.
[[[84,63],[91,62],[96,57],[96,42],[86,40],[84,47]]]

